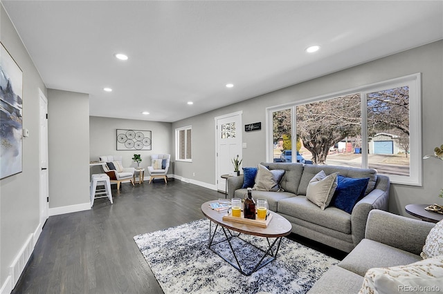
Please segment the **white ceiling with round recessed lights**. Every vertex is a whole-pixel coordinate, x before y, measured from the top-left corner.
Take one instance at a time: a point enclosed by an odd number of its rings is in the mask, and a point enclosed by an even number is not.
[[[100,117],[178,121],[443,39],[443,1],[2,3],[46,86]]]

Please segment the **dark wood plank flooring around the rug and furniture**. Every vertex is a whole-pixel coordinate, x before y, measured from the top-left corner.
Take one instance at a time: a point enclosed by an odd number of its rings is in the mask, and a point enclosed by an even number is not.
[[[12,293],[163,293],[135,235],[201,219],[203,202],[224,193],[170,180],[112,185],[114,204],[49,217]],[[338,259],[345,253],[291,234],[290,239]]]

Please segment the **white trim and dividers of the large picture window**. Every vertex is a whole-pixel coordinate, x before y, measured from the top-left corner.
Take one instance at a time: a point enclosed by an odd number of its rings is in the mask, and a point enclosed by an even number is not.
[[[393,184],[404,184],[410,186],[422,186],[422,75],[416,73],[413,75],[407,75],[405,77],[398,77],[395,79],[389,79],[387,81],[380,81],[374,84],[359,86],[356,88],[350,88],[347,90],[341,90],[338,92],[330,93],[327,95],[320,95],[317,97],[301,99],[299,101],[291,102],[288,104],[281,104],[279,106],[271,106],[266,108],[266,159],[269,162],[273,161],[273,129],[272,129],[272,114],[278,110],[284,110],[291,108],[293,114],[293,128],[291,130],[291,137],[293,138],[293,146],[296,146],[296,106],[307,104],[320,100],[327,100],[345,95],[350,95],[356,92],[361,93],[362,101],[366,101],[366,95],[370,92],[377,90],[385,90],[386,88],[396,88],[396,86],[409,86],[409,97],[413,99],[409,100],[409,140],[410,140],[410,173],[408,176],[402,175],[388,175],[390,182]],[[366,108],[362,103],[362,140],[367,140],[367,127],[366,127]],[[364,109],[363,109],[364,108]],[[364,120],[363,120],[364,119]],[[368,159],[365,157],[368,154],[368,147],[363,144],[362,146],[362,167],[368,166]]]

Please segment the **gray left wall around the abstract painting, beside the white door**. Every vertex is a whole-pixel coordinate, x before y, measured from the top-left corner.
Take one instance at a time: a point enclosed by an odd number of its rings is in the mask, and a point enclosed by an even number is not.
[[[39,88],[46,87],[0,5],[0,40],[23,71],[23,172],[0,180],[0,287],[9,266],[39,226]]]

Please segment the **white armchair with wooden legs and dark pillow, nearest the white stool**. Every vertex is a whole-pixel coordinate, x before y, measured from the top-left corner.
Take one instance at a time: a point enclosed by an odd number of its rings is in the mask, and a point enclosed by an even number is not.
[[[117,184],[117,190],[120,189],[120,183],[131,182],[134,186],[135,168],[124,168],[122,166],[122,157],[116,155],[100,156],[100,161],[105,161],[102,165],[103,170],[109,176],[111,184]]]

